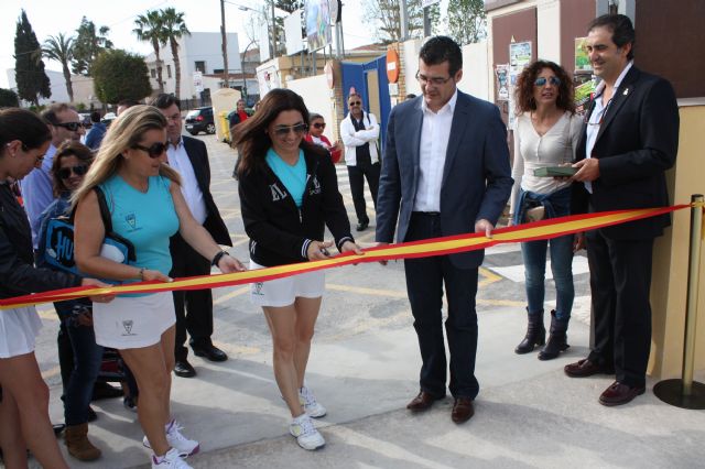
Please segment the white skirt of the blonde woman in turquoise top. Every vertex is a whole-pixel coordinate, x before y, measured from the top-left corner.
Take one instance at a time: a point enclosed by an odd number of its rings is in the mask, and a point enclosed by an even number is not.
[[[113,349],[153,346],[176,323],[172,292],[145,296],[118,296],[93,304],[96,343]]]

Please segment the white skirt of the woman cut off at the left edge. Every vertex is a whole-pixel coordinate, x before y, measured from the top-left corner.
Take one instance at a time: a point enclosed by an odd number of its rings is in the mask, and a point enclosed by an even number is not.
[[[12,358],[34,351],[42,319],[34,306],[0,309],[0,358]]]

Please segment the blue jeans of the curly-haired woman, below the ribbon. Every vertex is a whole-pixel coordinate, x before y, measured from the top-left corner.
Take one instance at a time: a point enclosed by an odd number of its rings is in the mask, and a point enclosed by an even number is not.
[[[521,243],[530,315],[539,314],[543,310],[547,246],[551,250],[551,271],[553,272],[556,290],[555,316],[557,319],[568,319],[571,317],[573,299],[575,298],[573,239],[573,234],[566,234],[551,240]]]

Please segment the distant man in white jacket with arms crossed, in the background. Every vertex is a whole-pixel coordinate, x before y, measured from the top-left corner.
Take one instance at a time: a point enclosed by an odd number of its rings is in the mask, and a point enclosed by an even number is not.
[[[340,122],[340,139],[345,145],[345,164],[348,166],[350,193],[357,215],[357,230],[364,231],[370,225],[365,201],[365,179],[372,194],[377,210],[377,187],[379,186],[379,124],[377,118],[362,109],[362,97],[355,89],[348,96],[350,112]]]

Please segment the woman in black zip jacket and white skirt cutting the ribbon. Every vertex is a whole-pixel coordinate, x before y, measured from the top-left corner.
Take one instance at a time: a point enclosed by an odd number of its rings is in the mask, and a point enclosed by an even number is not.
[[[258,111],[237,127],[234,144],[245,231],[250,237],[250,268],[260,269],[328,259],[328,227],[340,252],[361,254],[338,192],[328,152],[304,140],[308,110],[301,96],[273,89]],[[291,412],[289,432],[304,449],[325,444],[312,417],[326,410],[306,386],[314,326],[325,290],[323,271],[256,283],[251,299],[262,307],[272,334],[274,378]]]

